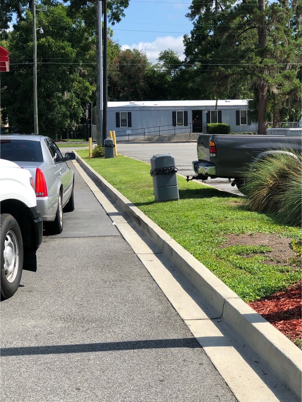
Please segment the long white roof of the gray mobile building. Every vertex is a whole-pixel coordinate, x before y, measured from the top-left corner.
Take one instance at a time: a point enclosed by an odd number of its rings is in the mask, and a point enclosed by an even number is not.
[[[121,107],[208,107],[215,106],[216,101],[122,101],[122,102],[108,102],[109,108]],[[232,100],[218,100],[217,106],[248,106],[247,99],[232,99]]]

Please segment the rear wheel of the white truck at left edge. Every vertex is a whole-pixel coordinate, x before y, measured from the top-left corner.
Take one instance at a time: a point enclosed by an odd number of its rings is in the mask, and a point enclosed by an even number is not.
[[[1,299],[8,299],[17,291],[23,269],[22,234],[16,219],[1,215]]]

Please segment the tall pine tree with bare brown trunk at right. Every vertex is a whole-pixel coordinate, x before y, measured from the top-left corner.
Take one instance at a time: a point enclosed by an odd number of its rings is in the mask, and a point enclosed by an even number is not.
[[[266,5],[264,0],[233,0],[198,3],[193,0],[188,17],[193,21],[191,36],[185,37],[186,62],[199,72],[199,86],[206,82],[207,94],[234,96],[234,89],[256,93],[258,133],[266,133],[272,98],[300,86],[301,37],[295,0]],[[289,73],[291,71],[291,73]],[[281,76],[286,79],[280,79]],[[219,79],[219,81],[218,81]],[[256,90],[256,91],[255,91]],[[298,91],[300,94],[300,91]],[[231,97],[229,96],[229,97]],[[241,95],[242,97],[242,91]],[[299,97],[292,97],[291,99]],[[280,106],[280,105],[279,105]],[[282,106],[282,105],[281,105]],[[295,105],[298,108],[298,102]]]

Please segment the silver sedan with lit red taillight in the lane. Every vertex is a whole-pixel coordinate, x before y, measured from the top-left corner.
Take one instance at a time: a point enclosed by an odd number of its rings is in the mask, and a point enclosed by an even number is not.
[[[75,159],[75,153],[63,157],[51,138],[36,134],[3,134],[0,151],[2,159],[30,171],[44,228],[48,234],[61,233],[63,209],[74,209],[74,173],[66,160]]]

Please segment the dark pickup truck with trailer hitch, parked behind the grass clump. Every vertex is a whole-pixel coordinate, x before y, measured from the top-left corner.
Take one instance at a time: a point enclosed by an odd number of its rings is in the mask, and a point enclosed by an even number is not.
[[[273,153],[301,153],[301,136],[257,134],[200,134],[197,139],[197,157],[192,167],[197,179],[225,178],[240,191],[244,174],[259,158]]]

